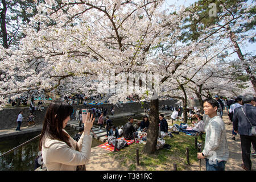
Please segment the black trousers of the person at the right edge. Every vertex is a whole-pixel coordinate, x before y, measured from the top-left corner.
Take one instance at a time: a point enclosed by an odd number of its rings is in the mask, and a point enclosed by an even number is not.
[[[243,164],[251,170],[251,143],[256,144],[256,137],[240,135]]]

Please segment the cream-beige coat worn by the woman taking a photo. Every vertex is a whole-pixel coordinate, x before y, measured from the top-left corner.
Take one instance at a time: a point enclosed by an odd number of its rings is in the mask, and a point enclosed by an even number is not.
[[[42,158],[47,171],[76,171],[77,166],[89,162],[92,136],[83,133],[78,142],[71,137],[69,142],[72,147],[47,135],[44,137]]]

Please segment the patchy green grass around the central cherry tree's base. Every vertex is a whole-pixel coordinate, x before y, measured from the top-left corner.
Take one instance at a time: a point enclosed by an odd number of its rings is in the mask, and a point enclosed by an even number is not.
[[[180,122],[175,122],[179,124]],[[197,163],[198,152],[195,148],[195,137],[186,135],[185,133],[173,134],[174,137],[164,137],[166,143],[171,145],[171,149],[167,150],[160,148],[155,154],[146,155],[143,154],[144,144],[131,144],[118,152],[111,152],[108,155],[114,156],[115,160],[119,161],[119,164],[123,167],[128,167],[129,170],[173,170],[174,163],[177,164],[177,170],[187,170],[189,168],[187,164],[187,158],[185,155],[186,148],[189,148],[189,161],[191,164]],[[200,139],[197,137],[199,143],[204,144],[204,137]],[[136,149],[139,149],[139,166],[136,162]]]

